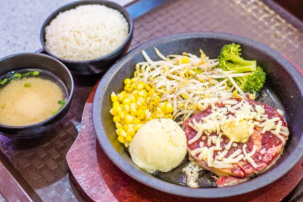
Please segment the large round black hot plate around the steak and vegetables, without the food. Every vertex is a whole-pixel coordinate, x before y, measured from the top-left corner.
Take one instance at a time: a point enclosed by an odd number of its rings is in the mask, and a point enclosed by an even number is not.
[[[217,58],[223,45],[235,42],[241,44],[243,57],[257,60],[258,65],[267,73],[266,88],[260,99],[273,107],[280,107],[285,112],[289,125],[289,139],[281,158],[267,171],[247,182],[223,188],[189,188],[169,183],[148,174],[138,168],[117,140],[115,124],[109,113],[112,108],[112,91],[123,90],[123,80],[133,76],[135,64],[144,61],[141,51],[145,51],[152,60],[159,60],[153,47],[157,47],[166,56],[182,52],[199,55],[199,49],[210,58]],[[270,94],[267,94],[267,91]],[[265,95],[268,95],[267,97]],[[270,96],[269,96],[270,95]],[[165,36],[147,42],[133,49],[120,59],[104,75],[93,100],[93,125],[97,139],[107,156],[123,172],[135,180],[172,194],[214,198],[243,194],[266,186],[287,173],[303,154],[303,78],[296,69],[272,49],[247,38],[216,32],[193,32]],[[276,103],[272,103],[273,99]],[[274,106],[277,105],[277,106]]]

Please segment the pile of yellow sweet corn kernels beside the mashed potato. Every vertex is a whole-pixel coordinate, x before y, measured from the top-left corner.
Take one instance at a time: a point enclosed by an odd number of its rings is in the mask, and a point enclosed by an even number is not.
[[[138,82],[138,78],[125,79],[124,90],[116,94],[112,92],[113,108],[118,141],[129,147],[129,142],[141,126],[149,120],[158,118],[173,119],[173,106],[168,102],[160,102],[160,95],[148,84]]]

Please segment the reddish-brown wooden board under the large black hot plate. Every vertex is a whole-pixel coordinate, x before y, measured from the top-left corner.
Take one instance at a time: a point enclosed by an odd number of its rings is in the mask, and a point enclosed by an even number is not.
[[[296,67],[297,68],[297,67]],[[302,71],[297,68],[302,74]],[[92,102],[98,83],[87,98],[80,133],[67,153],[70,172],[91,201],[280,201],[303,177],[303,158],[283,177],[262,189],[217,199],[195,199],[145,186],[123,173],[100,147],[92,125]],[[220,191],[220,188],[218,188]]]

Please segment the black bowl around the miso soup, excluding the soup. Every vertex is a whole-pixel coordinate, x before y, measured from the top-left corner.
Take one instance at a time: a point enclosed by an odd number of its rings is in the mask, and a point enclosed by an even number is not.
[[[0,59],[0,75],[26,68],[42,69],[58,76],[68,90],[68,99],[64,107],[54,116],[27,126],[8,126],[0,124],[0,134],[14,138],[33,138],[55,128],[67,114],[74,94],[74,81],[67,67],[55,58],[44,54],[16,54]]]

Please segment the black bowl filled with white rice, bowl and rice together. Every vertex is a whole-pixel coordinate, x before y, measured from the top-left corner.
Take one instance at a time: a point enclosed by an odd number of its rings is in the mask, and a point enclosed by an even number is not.
[[[65,5],[45,20],[40,32],[46,54],[80,75],[105,72],[127,53],[132,36],[128,11],[105,0]]]

